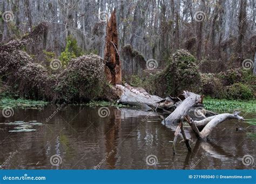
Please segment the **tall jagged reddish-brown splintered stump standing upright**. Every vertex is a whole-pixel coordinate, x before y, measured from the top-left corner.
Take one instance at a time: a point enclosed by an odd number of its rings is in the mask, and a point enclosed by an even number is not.
[[[106,25],[106,39],[104,49],[105,74],[109,83],[122,84],[121,61],[118,53],[118,35],[116,10],[111,13]]]

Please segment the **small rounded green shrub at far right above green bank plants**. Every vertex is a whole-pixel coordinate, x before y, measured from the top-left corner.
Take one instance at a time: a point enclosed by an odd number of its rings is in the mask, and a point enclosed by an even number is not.
[[[253,98],[253,92],[247,85],[242,83],[235,83],[228,87],[227,97],[230,99],[248,100]]]

